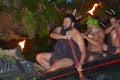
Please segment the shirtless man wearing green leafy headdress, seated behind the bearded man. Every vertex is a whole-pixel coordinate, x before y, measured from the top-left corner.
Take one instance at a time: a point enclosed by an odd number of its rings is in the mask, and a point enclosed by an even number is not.
[[[88,16],[87,31],[82,34],[83,38],[88,41],[87,59],[88,61],[98,59],[103,55],[104,31],[100,28],[97,20]]]

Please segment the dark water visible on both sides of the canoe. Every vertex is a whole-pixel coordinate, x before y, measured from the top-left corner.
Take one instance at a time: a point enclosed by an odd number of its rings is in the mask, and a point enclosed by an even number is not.
[[[22,40],[1,41],[0,47],[3,49],[13,49],[18,46],[18,43]],[[25,59],[35,62],[36,54],[40,52],[46,52],[48,50],[48,39],[33,39],[26,40],[25,48],[22,52]],[[87,72],[92,80],[120,80],[120,63],[107,65],[102,68],[94,69]],[[106,79],[105,79],[106,78]],[[79,80],[78,75],[70,75],[69,77],[63,77],[58,80]]]

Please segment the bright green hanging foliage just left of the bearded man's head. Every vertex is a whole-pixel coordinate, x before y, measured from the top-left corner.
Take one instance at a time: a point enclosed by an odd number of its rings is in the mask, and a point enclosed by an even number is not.
[[[27,1],[27,0],[24,0]],[[35,3],[35,2],[34,2]],[[32,3],[34,5],[34,3]],[[36,4],[36,3],[35,3]],[[27,18],[27,31],[30,38],[33,38],[36,33],[38,33],[39,38],[44,38],[48,35],[47,21],[54,19],[56,23],[61,22],[61,16],[58,11],[55,10],[53,4],[49,1],[40,1],[39,5],[42,6],[42,10],[37,12],[33,5],[27,3],[27,7],[31,12]],[[38,5],[38,4],[37,4]],[[33,6],[35,7],[35,6]]]

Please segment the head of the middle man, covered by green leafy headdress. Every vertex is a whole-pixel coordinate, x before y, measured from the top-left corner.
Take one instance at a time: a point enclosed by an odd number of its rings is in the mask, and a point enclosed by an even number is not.
[[[88,25],[88,28],[99,28],[100,27],[98,21],[93,19],[91,16],[88,16],[87,25]]]

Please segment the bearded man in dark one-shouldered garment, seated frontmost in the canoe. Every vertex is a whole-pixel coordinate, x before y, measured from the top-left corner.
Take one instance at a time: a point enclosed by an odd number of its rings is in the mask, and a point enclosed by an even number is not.
[[[74,28],[75,17],[66,15],[63,21],[63,27],[57,27],[50,37],[56,39],[54,52],[40,53],[36,56],[36,61],[46,68],[46,72],[54,71],[60,68],[74,65],[73,55],[68,43],[68,39],[72,39],[76,55],[80,61],[80,66],[83,65],[86,58],[84,40],[81,33]]]

